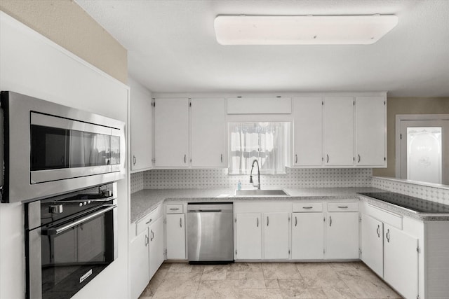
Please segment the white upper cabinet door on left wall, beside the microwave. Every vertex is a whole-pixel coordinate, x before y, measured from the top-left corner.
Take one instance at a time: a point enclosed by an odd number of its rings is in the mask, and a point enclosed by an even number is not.
[[[131,85],[131,170],[152,167],[152,98]]]

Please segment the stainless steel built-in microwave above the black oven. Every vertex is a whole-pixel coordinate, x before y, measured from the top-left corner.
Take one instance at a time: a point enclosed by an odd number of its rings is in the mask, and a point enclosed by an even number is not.
[[[0,99],[1,202],[36,200],[125,177],[125,123],[16,92],[2,91]]]

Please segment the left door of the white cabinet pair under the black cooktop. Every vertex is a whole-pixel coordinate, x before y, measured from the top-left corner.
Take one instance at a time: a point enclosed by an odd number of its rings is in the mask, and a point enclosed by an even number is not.
[[[384,223],[377,219],[362,215],[361,249],[363,260],[380,277],[384,276]]]

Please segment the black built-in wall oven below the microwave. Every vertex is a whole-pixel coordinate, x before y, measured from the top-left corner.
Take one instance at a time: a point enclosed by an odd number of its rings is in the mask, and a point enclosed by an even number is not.
[[[71,298],[117,258],[115,185],[25,204],[27,298]]]

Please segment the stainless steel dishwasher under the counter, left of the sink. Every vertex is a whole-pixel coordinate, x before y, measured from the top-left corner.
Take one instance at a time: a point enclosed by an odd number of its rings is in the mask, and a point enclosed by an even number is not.
[[[189,263],[234,262],[232,202],[187,204]]]

